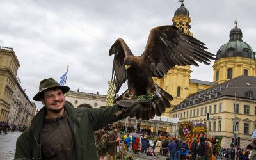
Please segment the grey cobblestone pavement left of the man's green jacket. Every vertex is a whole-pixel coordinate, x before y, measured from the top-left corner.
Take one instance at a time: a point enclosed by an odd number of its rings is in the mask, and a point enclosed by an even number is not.
[[[20,136],[20,132],[8,132],[8,134],[0,134],[0,159],[13,159],[15,152],[16,140]]]

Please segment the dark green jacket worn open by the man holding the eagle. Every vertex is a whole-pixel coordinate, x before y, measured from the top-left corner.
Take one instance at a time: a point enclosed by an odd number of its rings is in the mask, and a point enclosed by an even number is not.
[[[114,115],[120,109],[117,105],[106,109],[89,109],[72,108],[69,104],[65,104],[68,122],[76,144],[77,160],[99,159],[93,132],[125,118],[124,115]],[[41,158],[41,134],[45,114],[44,106],[31,121],[31,127],[19,136],[14,158]]]

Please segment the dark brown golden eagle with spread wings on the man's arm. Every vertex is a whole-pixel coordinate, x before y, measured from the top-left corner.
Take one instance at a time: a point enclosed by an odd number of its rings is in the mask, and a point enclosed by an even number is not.
[[[123,93],[117,100],[127,99],[127,95],[133,99],[153,95],[152,103],[132,116],[143,120],[161,116],[165,108],[170,107],[173,97],[157,86],[152,77],[163,78],[175,65],[198,66],[196,61],[209,65],[209,59],[215,59],[214,54],[205,51],[207,47],[204,45],[196,38],[180,33],[175,26],[153,28],[141,56],[134,56],[124,40],[117,39],[109,50],[109,56],[115,56],[112,70],[115,96],[128,79],[128,94]]]

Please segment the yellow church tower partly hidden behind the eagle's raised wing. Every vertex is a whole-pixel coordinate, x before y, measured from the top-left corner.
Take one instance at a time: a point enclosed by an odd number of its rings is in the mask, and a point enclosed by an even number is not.
[[[183,0],[181,6],[175,11],[172,19],[173,25],[179,28],[179,31],[188,35],[193,36],[190,32],[191,19],[189,17],[189,11],[185,8]],[[182,100],[186,99],[189,95],[189,79],[192,70],[189,65],[186,66],[175,66],[168,71],[168,74],[164,75],[163,79],[154,77],[154,82],[157,83],[161,88],[173,96],[174,100],[171,102],[171,108],[166,109],[163,116],[168,116],[169,111],[173,109],[174,105],[179,104]]]

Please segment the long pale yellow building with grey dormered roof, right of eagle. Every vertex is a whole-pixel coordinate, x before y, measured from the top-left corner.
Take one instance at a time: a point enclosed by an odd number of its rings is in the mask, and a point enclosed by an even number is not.
[[[180,122],[191,120],[195,124],[206,123],[209,133],[223,136],[222,147],[225,148],[230,147],[234,138],[233,120],[236,120],[241,148],[246,148],[250,143],[248,140],[252,139],[252,131],[256,129],[255,81],[256,77],[239,76],[194,93],[175,106],[170,116],[179,118]],[[210,120],[206,120],[206,113],[210,113]],[[171,134],[178,127],[172,126]]]

